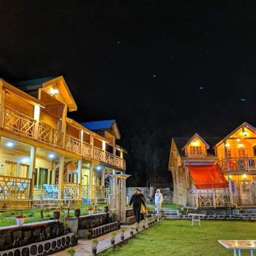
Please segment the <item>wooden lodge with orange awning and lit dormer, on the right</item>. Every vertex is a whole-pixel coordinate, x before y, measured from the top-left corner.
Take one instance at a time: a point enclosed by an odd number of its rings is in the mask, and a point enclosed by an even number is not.
[[[172,138],[173,202],[183,206],[256,205],[256,128],[244,122],[224,138]]]

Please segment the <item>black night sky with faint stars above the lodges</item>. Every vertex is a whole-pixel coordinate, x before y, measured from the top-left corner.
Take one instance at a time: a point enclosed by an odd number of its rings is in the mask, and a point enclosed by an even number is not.
[[[173,135],[256,125],[253,1],[3,0],[0,19],[3,79],[63,75],[71,118],[116,119],[134,155],[146,133],[164,172]]]

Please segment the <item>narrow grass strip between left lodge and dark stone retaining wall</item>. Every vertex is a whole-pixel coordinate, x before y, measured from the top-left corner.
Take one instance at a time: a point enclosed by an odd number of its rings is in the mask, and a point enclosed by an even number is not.
[[[88,215],[88,205],[79,206],[81,209],[81,215]],[[103,210],[103,206],[98,206],[99,209]],[[45,208],[43,210],[44,212],[44,218],[41,218],[41,211],[40,209],[30,209],[30,210],[23,210],[23,211],[6,211],[6,212],[0,212],[0,227],[4,226],[12,226],[16,225],[16,219],[15,215],[26,215],[26,219],[24,224],[31,223],[31,222],[37,222],[37,221],[47,221],[50,218],[53,217],[53,210]],[[33,213],[33,216],[29,217]],[[67,210],[61,212],[61,217],[64,217],[67,215]],[[70,217],[74,217],[74,210],[70,209]]]

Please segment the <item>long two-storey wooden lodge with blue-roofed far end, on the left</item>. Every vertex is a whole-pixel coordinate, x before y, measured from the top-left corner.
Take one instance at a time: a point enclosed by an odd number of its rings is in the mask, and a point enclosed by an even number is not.
[[[115,120],[78,123],[63,76],[0,79],[0,207],[108,198],[105,174],[125,172]]]

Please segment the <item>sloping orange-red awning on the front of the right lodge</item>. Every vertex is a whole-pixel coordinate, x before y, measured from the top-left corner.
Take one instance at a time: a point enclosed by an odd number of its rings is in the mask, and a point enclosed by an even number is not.
[[[189,166],[189,172],[197,189],[214,189],[227,187],[227,180],[217,165]]]

